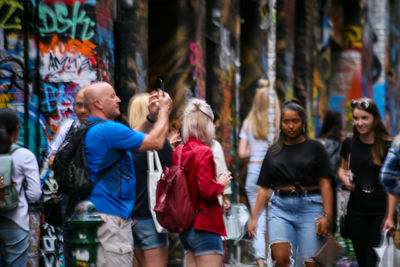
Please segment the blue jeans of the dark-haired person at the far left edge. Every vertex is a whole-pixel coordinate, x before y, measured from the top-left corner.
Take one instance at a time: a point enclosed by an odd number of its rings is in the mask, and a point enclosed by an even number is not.
[[[28,260],[29,232],[21,228],[0,229],[0,243],[3,264],[9,267],[26,266]]]

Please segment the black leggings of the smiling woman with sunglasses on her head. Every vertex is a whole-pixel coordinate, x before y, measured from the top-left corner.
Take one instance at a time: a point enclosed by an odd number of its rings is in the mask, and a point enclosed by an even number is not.
[[[353,192],[350,202],[349,205],[352,207],[348,211],[349,230],[358,266],[375,267],[377,256],[373,247],[378,247],[381,240],[382,223],[386,210],[386,193],[373,193],[371,197],[363,197]],[[365,208],[368,206],[369,210],[366,210]],[[376,212],[377,208],[380,208],[378,213]],[[354,212],[355,210],[357,211]]]

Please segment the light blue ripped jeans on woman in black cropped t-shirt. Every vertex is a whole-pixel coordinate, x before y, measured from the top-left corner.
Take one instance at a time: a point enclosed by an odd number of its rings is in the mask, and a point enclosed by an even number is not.
[[[323,214],[321,195],[272,195],[268,209],[269,245],[289,242],[291,266],[304,266],[304,260],[314,255],[325,241],[325,238],[317,236],[315,221]],[[296,256],[299,257],[297,261]]]

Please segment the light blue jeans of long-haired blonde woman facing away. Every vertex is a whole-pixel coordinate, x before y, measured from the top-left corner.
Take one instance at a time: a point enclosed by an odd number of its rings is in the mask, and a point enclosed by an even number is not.
[[[253,211],[256,205],[258,176],[260,174],[261,164],[249,163],[247,167],[246,193],[250,208]],[[265,259],[265,231],[267,227],[267,213],[265,207],[261,210],[257,220],[256,237],[252,241],[254,257],[256,259]]]

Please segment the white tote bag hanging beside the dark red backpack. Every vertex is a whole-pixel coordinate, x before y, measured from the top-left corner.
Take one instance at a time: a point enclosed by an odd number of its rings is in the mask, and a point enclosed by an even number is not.
[[[167,233],[167,230],[158,223],[156,213],[154,212],[154,206],[156,205],[157,182],[163,174],[157,151],[147,151],[147,167],[147,194],[149,196],[149,208],[151,216],[153,217],[157,232]]]

